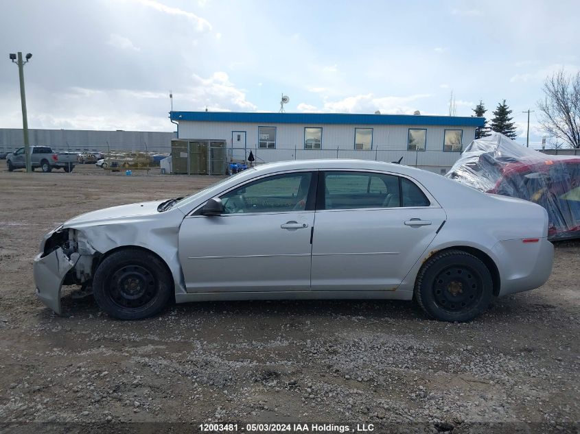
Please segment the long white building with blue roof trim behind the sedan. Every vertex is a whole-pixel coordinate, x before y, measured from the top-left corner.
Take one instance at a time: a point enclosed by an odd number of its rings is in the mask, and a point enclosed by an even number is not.
[[[225,143],[228,159],[398,161],[445,173],[483,117],[421,114],[170,112],[178,139]]]

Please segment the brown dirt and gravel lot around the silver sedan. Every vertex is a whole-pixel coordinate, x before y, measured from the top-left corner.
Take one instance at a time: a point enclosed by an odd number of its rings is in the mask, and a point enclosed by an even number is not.
[[[205,302],[119,322],[91,298],[68,293],[62,317],[36,299],[32,258],[51,228],[215,180],[93,166],[0,172],[0,422],[91,422],[85,432],[211,421],[578,430],[579,242],[557,244],[544,287],[498,300],[469,324],[426,320],[409,302]]]

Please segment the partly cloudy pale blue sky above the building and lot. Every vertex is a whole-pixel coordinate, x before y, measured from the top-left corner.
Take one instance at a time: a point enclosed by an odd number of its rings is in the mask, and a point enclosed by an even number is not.
[[[513,110],[538,147],[546,75],[580,68],[558,1],[0,0],[0,128],[173,131],[174,110],[449,114]],[[548,137],[548,143],[550,138]]]

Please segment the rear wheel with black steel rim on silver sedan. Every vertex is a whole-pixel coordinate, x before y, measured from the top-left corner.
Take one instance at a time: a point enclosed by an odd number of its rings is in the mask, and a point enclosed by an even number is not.
[[[434,254],[419,271],[415,300],[440,321],[471,321],[487,309],[494,283],[485,264],[462,250]]]

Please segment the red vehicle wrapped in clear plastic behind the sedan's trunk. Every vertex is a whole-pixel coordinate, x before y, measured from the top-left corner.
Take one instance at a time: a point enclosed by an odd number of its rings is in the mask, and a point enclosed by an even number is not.
[[[542,154],[500,133],[465,148],[448,178],[480,191],[519,197],[548,211],[548,239],[580,238],[580,158]]]

